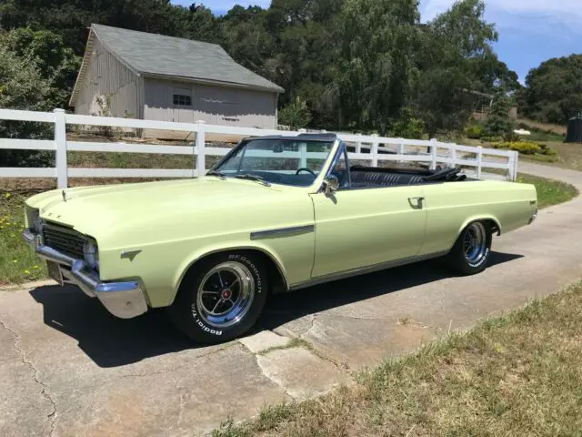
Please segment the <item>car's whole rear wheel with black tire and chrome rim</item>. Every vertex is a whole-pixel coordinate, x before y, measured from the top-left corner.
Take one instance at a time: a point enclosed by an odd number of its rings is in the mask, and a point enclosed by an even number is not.
[[[477,244],[481,249],[474,251],[469,250],[469,256],[467,256],[466,250],[470,249],[467,247],[467,239],[475,238],[475,234],[481,235],[480,244]],[[479,237],[477,237],[479,239]],[[451,269],[457,271],[462,275],[476,275],[481,273],[487,268],[487,262],[491,255],[491,242],[492,242],[492,232],[491,226],[486,221],[474,221],[467,225],[467,228],[463,229],[461,234],[458,236],[457,242],[453,249],[447,255],[447,262]],[[468,243],[469,245],[471,243]],[[475,256],[470,255],[475,253]]]

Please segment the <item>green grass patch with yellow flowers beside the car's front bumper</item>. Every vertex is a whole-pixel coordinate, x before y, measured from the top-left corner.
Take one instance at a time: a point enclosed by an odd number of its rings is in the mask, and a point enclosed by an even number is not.
[[[0,285],[46,277],[45,262],[20,236],[25,229],[25,195],[0,191]]]

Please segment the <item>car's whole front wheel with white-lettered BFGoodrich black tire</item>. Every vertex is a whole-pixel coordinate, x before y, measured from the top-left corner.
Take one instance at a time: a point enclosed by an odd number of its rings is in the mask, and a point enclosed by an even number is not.
[[[225,266],[227,268],[223,270]],[[242,293],[242,290],[250,290],[250,283],[254,287],[253,297],[247,302],[246,310],[244,314],[241,312],[243,315],[239,320],[236,320],[238,317],[235,316],[228,319],[231,316],[215,317],[214,315],[218,310],[227,309],[229,302],[233,301],[226,301],[225,297],[234,299],[236,294],[236,280],[231,282],[230,286],[227,284],[228,280],[232,279],[228,276],[229,269],[233,269],[232,278],[236,278],[236,270],[246,272],[246,275],[240,275],[240,278],[244,278],[245,289],[243,289],[243,283],[239,281],[238,284],[241,287],[238,289],[239,293]],[[218,273],[213,273],[214,271],[218,271]],[[224,279],[226,288],[223,287],[221,276],[226,276]],[[203,280],[205,284],[202,283]],[[204,285],[204,289],[216,289],[217,285],[218,289],[222,288],[223,290],[217,291],[217,296],[214,290],[205,290],[202,293],[202,285]],[[230,290],[231,286],[233,290]],[[168,308],[168,312],[176,327],[192,340],[202,343],[221,343],[240,337],[255,325],[265,307],[267,290],[266,269],[260,256],[252,252],[224,252],[204,259],[188,270],[180,284],[176,300]],[[221,300],[222,303],[218,300]],[[218,310],[216,307],[210,311],[206,309],[206,307],[213,307],[215,303],[222,306],[219,306]],[[235,308],[234,303],[233,308]],[[218,323],[217,319],[226,319],[226,321]]]

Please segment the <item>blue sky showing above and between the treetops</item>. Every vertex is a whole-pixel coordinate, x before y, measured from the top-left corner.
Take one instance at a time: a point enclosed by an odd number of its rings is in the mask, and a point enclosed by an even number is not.
[[[444,12],[454,0],[421,0],[422,20]],[[173,0],[190,5],[189,0]],[[198,0],[216,14],[224,14],[233,5],[260,5],[270,0]],[[486,0],[487,21],[495,23],[499,41],[495,48],[499,58],[521,80],[530,68],[550,57],[582,53],[582,5],[580,0]]]

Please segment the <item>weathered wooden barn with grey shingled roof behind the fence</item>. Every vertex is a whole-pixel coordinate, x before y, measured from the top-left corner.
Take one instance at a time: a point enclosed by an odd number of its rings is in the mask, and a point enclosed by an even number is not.
[[[236,64],[221,46],[91,25],[70,106],[82,115],[106,112],[112,117],[276,128],[277,98],[283,91]],[[108,102],[105,111],[99,101]]]

